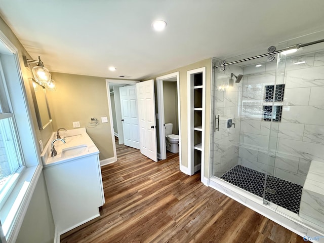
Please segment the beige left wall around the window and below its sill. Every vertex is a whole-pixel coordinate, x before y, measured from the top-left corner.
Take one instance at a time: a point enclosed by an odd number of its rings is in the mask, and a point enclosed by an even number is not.
[[[53,129],[52,129],[52,125],[49,125],[45,130],[38,129],[36,113],[32,102],[29,80],[28,80],[29,77],[32,77],[32,72],[29,68],[26,68],[24,66],[22,55],[26,55],[28,59],[31,59],[31,57],[28,55],[26,50],[22,47],[15,34],[11,31],[11,29],[3,21],[2,18],[0,18],[0,31],[2,31],[7,36],[9,41],[18,49],[19,63],[21,66],[24,86],[26,88],[26,95],[28,99],[30,114],[33,120],[33,129],[37,141],[42,139],[43,143],[45,144],[50,138]],[[40,154],[39,148],[38,148],[38,153]],[[43,179],[43,176],[44,175],[42,172],[41,177],[39,178],[37,182],[37,186],[32,195],[32,199],[29,203],[26,212],[26,219],[24,220],[21,229],[19,231],[20,236],[25,235],[26,232],[29,232],[28,240],[30,241],[23,241],[23,242],[39,242],[38,239],[40,238],[42,239],[42,242],[53,242],[54,240],[54,221],[50,209],[47,189],[45,186],[45,181]],[[34,198],[37,199],[35,200]],[[42,201],[42,205],[39,204],[40,201]],[[32,215],[32,217],[29,217],[28,215],[29,216]],[[35,225],[34,222],[37,222],[37,225]]]

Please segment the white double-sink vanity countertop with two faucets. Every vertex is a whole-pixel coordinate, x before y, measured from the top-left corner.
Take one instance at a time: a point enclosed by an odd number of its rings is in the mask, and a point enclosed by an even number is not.
[[[54,132],[46,144],[43,153],[41,154],[42,162],[44,168],[49,166],[58,165],[61,163],[65,163],[67,161],[86,157],[92,154],[98,154],[99,149],[96,147],[94,142],[91,140],[89,135],[87,134],[86,128],[78,128],[72,130],[61,130],[60,137],[65,140],[65,143],[62,141],[56,141],[54,143],[55,150],[57,151],[57,155],[52,157],[51,154],[51,143],[54,139],[56,139],[56,132]],[[64,153],[67,150],[73,151],[75,148],[82,148],[81,151],[77,154],[69,155],[68,153]],[[62,153],[63,151],[63,153]],[[63,155],[62,155],[63,154]]]

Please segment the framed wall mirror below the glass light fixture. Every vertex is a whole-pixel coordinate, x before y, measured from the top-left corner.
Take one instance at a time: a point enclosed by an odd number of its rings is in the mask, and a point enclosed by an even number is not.
[[[46,89],[44,86],[39,85],[33,78],[29,78],[29,83],[38,127],[42,130],[52,122],[50,107],[46,97]]]

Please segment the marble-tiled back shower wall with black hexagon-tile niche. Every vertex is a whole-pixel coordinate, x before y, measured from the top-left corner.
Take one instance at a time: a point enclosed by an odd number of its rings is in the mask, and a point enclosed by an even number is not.
[[[305,63],[294,64],[300,61]],[[264,101],[264,92],[274,83],[274,64],[257,72],[255,66],[244,70],[239,164],[303,185],[310,161],[324,161],[324,52],[287,58],[281,78],[284,101],[274,102],[282,105],[280,122],[263,120],[263,105],[272,105]],[[277,150],[268,161],[270,125],[270,143]]]

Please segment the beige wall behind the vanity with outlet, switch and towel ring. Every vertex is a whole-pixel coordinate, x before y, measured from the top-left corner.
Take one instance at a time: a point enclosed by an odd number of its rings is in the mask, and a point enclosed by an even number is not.
[[[109,121],[106,79],[51,73],[56,82],[56,91],[48,92],[54,130],[73,129],[73,121],[79,121],[98,147],[100,160],[113,157],[110,123],[101,123],[103,116]],[[92,117],[98,119],[98,126],[89,126]]]

